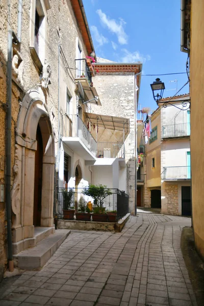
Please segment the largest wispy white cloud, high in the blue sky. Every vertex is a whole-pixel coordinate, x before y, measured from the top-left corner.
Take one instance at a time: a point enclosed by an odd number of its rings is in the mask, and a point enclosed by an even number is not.
[[[124,32],[125,21],[119,18],[117,22],[115,19],[110,19],[101,10],[97,10],[96,13],[100,17],[101,22],[110,30],[110,32],[117,35],[118,42],[120,44],[127,44],[127,34]]]

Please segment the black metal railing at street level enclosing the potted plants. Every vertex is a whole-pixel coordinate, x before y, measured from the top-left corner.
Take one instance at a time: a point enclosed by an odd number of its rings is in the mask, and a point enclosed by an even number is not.
[[[71,198],[71,207],[75,211],[78,211],[78,206],[81,198],[84,199],[86,203],[91,201],[92,207],[96,207],[95,201],[91,196],[83,194],[84,188],[58,188],[57,190],[57,211],[56,214],[58,219],[63,218],[63,209],[64,209],[64,190],[69,191],[72,189],[73,195]],[[111,194],[104,199],[103,207],[106,208],[107,212],[117,211],[117,220],[121,219],[129,212],[129,195],[124,191],[121,191],[117,188],[108,188],[111,191]]]

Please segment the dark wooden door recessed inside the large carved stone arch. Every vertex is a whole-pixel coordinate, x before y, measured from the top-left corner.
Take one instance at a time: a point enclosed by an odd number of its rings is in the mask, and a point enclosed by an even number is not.
[[[34,207],[33,225],[40,226],[41,223],[41,199],[42,199],[42,135],[38,124],[36,132],[37,150],[35,151],[35,179],[34,179]]]

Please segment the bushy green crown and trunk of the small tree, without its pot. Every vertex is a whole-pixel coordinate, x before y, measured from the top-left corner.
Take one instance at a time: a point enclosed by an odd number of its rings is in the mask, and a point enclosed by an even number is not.
[[[89,185],[82,191],[83,194],[91,196],[95,200],[97,207],[103,207],[104,199],[112,192],[105,185]]]

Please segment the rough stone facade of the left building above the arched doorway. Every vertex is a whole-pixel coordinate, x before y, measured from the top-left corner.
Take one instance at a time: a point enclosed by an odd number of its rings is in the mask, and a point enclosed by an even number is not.
[[[51,84],[47,88],[43,88],[41,82],[41,72],[36,66],[35,60],[32,58],[30,52],[31,45],[31,27],[33,27],[30,16],[33,17],[31,10],[35,11],[35,1],[23,0],[22,9],[22,30],[21,43],[13,44],[13,59],[12,59],[12,186],[14,185],[14,178],[16,169],[14,165],[17,155],[15,152],[16,126],[19,115],[19,110],[22,105],[23,97],[28,91],[36,90],[43,96],[43,105],[47,110],[50,122],[52,123],[53,137],[55,141],[55,156],[57,158],[58,152],[58,44],[66,58],[66,62],[61,56],[60,71],[63,74],[63,86],[67,87],[72,94],[74,105],[74,112],[76,112],[77,97],[75,90],[75,57],[76,57],[76,41],[78,39],[82,48],[82,58],[87,54],[85,43],[83,41],[82,33],[79,29],[77,19],[74,16],[70,0],[61,1],[41,1],[44,10],[45,35],[44,56],[50,65],[52,74],[50,76]],[[8,2],[6,0],[0,3],[0,184],[5,184],[5,125],[6,125],[6,101],[7,101],[7,49],[8,49]],[[49,8],[48,4],[51,6]],[[11,1],[11,19],[10,25],[12,30],[17,34],[17,16],[18,16],[18,1]],[[41,35],[40,35],[41,36]],[[42,62],[44,65],[45,62]],[[68,69],[67,66],[70,68]],[[61,85],[62,86],[62,85]],[[64,89],[63,89],[64,90]],[[61,107],[64,109],[66,99],[61,98]],[[63,114],[63,113],[62,113]],[[61,116],[61,115],[60,115]],[[62,122],[62,120],[60,120]],[[29,142],[29,141],[28,141]],[[14,172],[15,170],[15,172]],[[34,173],[33,173],[34,175]],[[16,185],[17,186],[17,185]],[[28,191],[29,192],[29,191]],[[20,203],[21,205],[21,203]],[[12,219],[14,214],[12,213]],[[25,216],[26,219],[26,216]],[[5,203],[0,202],[0,281],[7,262],[6,258],[6,218],[5,218]]]

